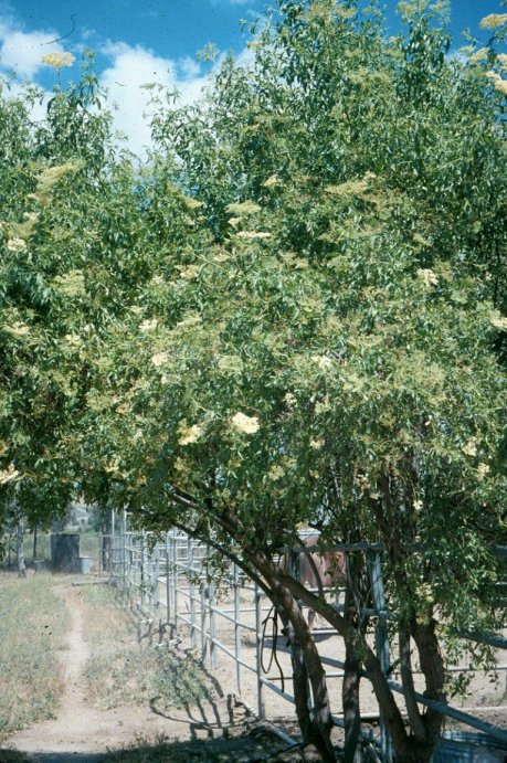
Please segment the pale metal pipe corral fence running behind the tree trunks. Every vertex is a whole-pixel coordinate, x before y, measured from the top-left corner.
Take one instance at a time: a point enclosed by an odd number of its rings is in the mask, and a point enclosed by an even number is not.
[[[255,696],[253,711],[260,719],[273,716],[273,696],[289,704],[295,703],[291,691],[288,650],[284,646],[284,636],[276,632],[271,601],[236,564],[223,559],[220,583],[215,585],[209,569],[211,558],[214,558],[214,563],[216,561],[216,551],[175,529],[162,536],[130,531],[125,513],[113,517],[112,533],[103,538],[101,548],[102,571],[108,572],[112,582],[128,593],[141,617],[145,637],[162,642],[184,633],[191,648],[200,654],[203,665],[211,670],[216,669],[220,656],[231,660],[235,668],[236,691],[241,698],[245,693]],[[397,646],[389,639],[390,615],[383,597],[381,549],[379,545],[353,543],[337,545],[332,550],[367,554],[373,602],[372,610],[367,612],[373,623],[370,637],[382,668],[390,676],[391,688],[403,695],[403,688],[394,680],[397,675],[390,667],[397,661]],[[299,552],[300,549],[292,550],[294,559]],[[507,561],[507,548],[497,549],[496,553]],[[342,611],[345,590],[334,586],[328,595],[334,597],[337,610]],[[340,683],[345,668],[345,654],[340,654],[339,646],[341,639],[326,626],[317,626],[314,633],[329,685]],[[497,649],[507,648],[507,639],[503,637],[467,634],[467,638],[490,643]],[[451,670],[466,672],[472,668],[455,666]],[[496,670],[505,671],[507,665],[500,660]],[[338,686],[336,693],[339,689]],[[442,740],[441,753],[435,753],[435,763],[484,760],[480,753],[473,756],[484,745],[488,750],[507,752],[507,731],[480,720],[471,711],[427,699],[422,691],[416,695],[416,700],[475,730],[472,733],[445,732],[446,739]],[[362,713],[361,719],[378,721],[378,724],[363,733],[363,744],[370,751],[376,750],[372,760],[377,756],[377,760],[390,763],[393,760],[392,745],[381,712],[374,707],[371,696],[369,703],[370,711]],[[274,714],[283,714],[279,702]],[[337,725],[344,725],[342,717],[336,716],[334,720]],[[378,732],[373,732],[373,728]],[[499,753],[496,760],[501,761],[503,754]]]

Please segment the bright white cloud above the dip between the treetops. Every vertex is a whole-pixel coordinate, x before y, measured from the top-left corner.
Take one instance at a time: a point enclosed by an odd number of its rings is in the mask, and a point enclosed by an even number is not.
[[[147,115],[152,96],[146,85],[178,91],[180,103],[188,104],[199,98],[207,77],[192,59],[175,62],[141,45],[133,47],[125,42],[109,42],[101,52],[112,59],[112,65],[101,75],[101,83],[107,88],[109,100],[117,106],[115,127],[127,136],[128,147],[142,156],[150,142]]]

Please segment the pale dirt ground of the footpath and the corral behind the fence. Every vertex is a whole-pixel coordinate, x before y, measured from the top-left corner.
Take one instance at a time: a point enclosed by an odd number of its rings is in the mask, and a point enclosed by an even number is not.
[[[216,699],[202,702],[190,710],[160,711],[156,704],[124,706],[112,710],[99,710],[85,699],[86,688],[84,669],[89,657],[89,644],[85,639],[85,615],[80,587],[72,577],[53,579],[54,592],[65,601],[71,627],[66,643],[59,653],[59,660],[65,677],[65,691],[59,716],[50,721],[36,723],[29,729],[13,734],[9,748],[24,753],[33,763],[95,763],[97,761],[261,761],[271,760],[297,761],[311,760],[310,752],[303,759],[299,752],[282,751],[288,746],[287,741],[274,735],[270,724],[260,724],[249,714],[249,703],[256,709],[256,676],[250,670],[242,671],[242,700],[236,701],[236,667],[226,655],[216,653],[216,665],[210,676],[215,689]],[[92,582],[92,581],[89,581]],[[245,614],[246,621],[253,614]],[[186,627],[180,628],[184,637]],[[218,624],[216,635],[220,640],[233,650],[234,632],[232,627]],[[326,635],[317,636],[319,650],[329,657],[341,659],[338,639]],[[270,639],[266,640],[270,647]],[[266,660],[268,660],[268,648]],[[282,646],[278,661],[287,679],[286,690],[291,691],[289,655]],[[246,663],[255,661],[255,634],[249,630],[242,636],[242,658]],[[276,679],[278,669],[273,666],[271,674]],[[278,676],[279,678],[279,676]],[[474,712],[484,720],[505,728],[507,709],[505,671],[496,681],[489,682],[485,677],[474,679],[472,691],[466,701],[480,711]],[[331,696],[339,693],[340,679],[330,679]],[[278,683],[279,685],[279,683]],[[365,682],[363,708],[374,712],[376,702]],[[335,697],[336,699],[336,697]],[[496,704],[497,707],[487,707]],[[278,728],[297,734],[294,723],[294,709],[286,700],[272,691],[265,690],[266,714]],[[339,702],[334,702],[339,707]],[[337,730],[338,742],[341,732]],[[172,753],[167,757],[138,756],[130,757],[133,750],[146,750],[150,744],[170,742]],[[189,748],[189,743],[191,746]],[[205,749],[204,749],[205,744]],[[193,746],[192,746],[193,745]],[[116,751],[116,755],[114,754]],[[130,751],[130,752],[129,752]],[[3,756],[2,756],[3,755]],[[0,763],[10,760],[0,751]],[[316,760],[316,759],[314,759]]]

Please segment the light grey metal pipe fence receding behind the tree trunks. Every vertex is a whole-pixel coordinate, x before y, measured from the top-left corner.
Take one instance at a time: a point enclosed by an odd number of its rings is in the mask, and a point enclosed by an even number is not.
[[[265,623],[272,610],[272,603],[261,589],[251,584],[244,573],[234,564],[224,564],[218,585],[210,574],[210,555],[212,550],[204,543],[197,542],[180,531],[172,529],[163,537],[145,531],[127,531],[125,515],[113,521],[109,551],[109,575],[114,583],[124,587],[138,612],[148,624],[149,636],[158,634],[159,640],[165,635],[173,638],[178,633],[186,633],[192,649],[200,654],[203,665],[215,668],[219,656],[224,655],[235,665],[235,683],[241,696],[246,674],[252,674],[256,683],[256,714],[265,719],[268,695],[295,703],[293,693],[285,686],[284,677],[265,672],[263,649],[266,645]],[[107,543],[106,543],[107,545]],[[360,547],[360,548],[359,548]],[[340,545],[340,550],[347,547]],[[388,621],[383,594],[381,549],[367,544],[353,544],[353,550],[366,553],[367,568],[371,585],[372,607],[368,614],[373,616],[372,645],[389,676],[392,689],[402,693],[402,689],[392,680],[390,666],[395,664],[394,644],[390,644]],[[293,550],[294,560],[300,549]],[[331,586],[329,596],[335,596],[335,606],[344,610],[339,596],[344,590]],[[316,628],[316,638],[335,634],[329,627]],[[279,636],[271,638],[271,647],[277,648]],[[245,642],[254,648],[244,648]],[[278,646],[278,648],[281,648]],[[283,649],[283,647],[282,647]],[[344,660],[321,655],[323,665],[327,668],[327,678],[341,680]],[[337,670],[338,668],[338,670]],[[497,669],[506,669],[500,665]],[[455,670],[465,671],[466,666]],[[282,682],[282,686],[278,686]],[[507,732],[485,723],[473,716],[444,706],[431,703],[421,693],[418,701],[431,704],[439,712],[457,718],[461,722],[487,732],[490,736],[507,744]],[[439,706],[436,708],[436,706]],[[456,716],[457,713],[457,716]],[[381,760],[390,763],[393,759],[392,745],[380,711],[368,713],[379,719],[380,733],[376,740]],[[342,719],[335,718],[342,724]]]

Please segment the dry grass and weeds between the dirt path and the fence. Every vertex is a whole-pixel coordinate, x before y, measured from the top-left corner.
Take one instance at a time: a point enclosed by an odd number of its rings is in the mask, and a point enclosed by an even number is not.
[[[138,644],[136,622],[114,587],[85,586],[82,601],[89,610],[86,638],[93,646],[85,670],[87,698],[95,706],[110,709],[155,701],[160,709],[183,708],[213,698],[210,681],[192,655],[167,644]]]

